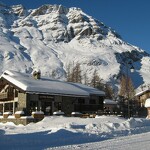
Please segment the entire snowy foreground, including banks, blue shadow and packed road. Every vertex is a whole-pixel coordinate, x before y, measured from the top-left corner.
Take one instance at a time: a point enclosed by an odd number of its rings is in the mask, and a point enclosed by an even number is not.
[[[150,149],[150,120],[52,116],[27,126],[0,123],[0,149]]]

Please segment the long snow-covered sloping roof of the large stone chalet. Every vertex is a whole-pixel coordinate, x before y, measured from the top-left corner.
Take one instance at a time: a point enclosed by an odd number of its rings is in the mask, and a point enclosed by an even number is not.
[[[105,95],[103,91],[79,83],[64,82],[48,77],[41,77],[39,80],[36,80],[31,74],[10,70],[6,70],[1,75],[1,78],[5,78],[27,93],[33,92],[86,97],[92,94],[101,96]]]

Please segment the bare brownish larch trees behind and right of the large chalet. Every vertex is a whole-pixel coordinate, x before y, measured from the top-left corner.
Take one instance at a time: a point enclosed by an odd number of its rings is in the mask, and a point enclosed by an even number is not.
[[[56,72],[52,71],[52,77],[55,78]],[[133,99],[135,95],[135,90],[133,83],[129,77],[122,75],[119,78],[120,90],[116,92],[114,85],[110,83],[104,83],[103,79],[98,74],[95,69],[91,78],[88,78],[87,72],[82,73],[80,63],[69,63],[66,67],[66,81],[74,83],[82,83],[88,86],[92,86],[106,93],[106,98],[116,100],[117,97],[122,97],[124,99]]]

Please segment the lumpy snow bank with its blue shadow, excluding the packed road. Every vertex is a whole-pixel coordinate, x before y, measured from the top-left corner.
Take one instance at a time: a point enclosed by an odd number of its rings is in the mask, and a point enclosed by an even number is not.
[[[20,147],[48,149],[100,142],[149,131],[150,120],[142,118],[127,120],[115,116],[97,116],[97,118],[51,116],[26,126],[0,123],[0,144],[2,149],[20,149]]]

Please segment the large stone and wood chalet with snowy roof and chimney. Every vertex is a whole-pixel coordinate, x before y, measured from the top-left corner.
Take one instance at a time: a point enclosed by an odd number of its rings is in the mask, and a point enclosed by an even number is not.
[[[5,71],[0,77],[0,112],[24,111],[29,116],[33,111],[44,115],[62,111],[94,113],[103,109],[105,93],[98,89],[71,82],[63,82],[15,71]]]

